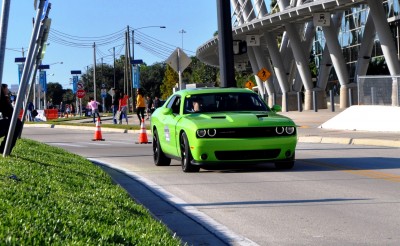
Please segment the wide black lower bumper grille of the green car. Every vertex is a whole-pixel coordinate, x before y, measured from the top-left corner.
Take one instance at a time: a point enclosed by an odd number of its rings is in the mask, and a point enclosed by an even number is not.
[[[280,149],[215,151],[215,156],[221,161],[274,159],[280,152]]]

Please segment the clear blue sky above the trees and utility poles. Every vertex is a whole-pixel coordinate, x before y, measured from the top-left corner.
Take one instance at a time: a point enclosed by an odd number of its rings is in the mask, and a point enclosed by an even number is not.
[[[71,70],[83,73],[93,66],[94,42],[98,43],[96,63],[112,65],[113,47],[117,58],[124,52],[127,26],[130,34],[132,28],[137,29],[135,40],[140,42],[135,44],[134,58],[148,65],[164,62],[182,44],[187,55],[195,55],[196,49],[212,39],[218,29],[214,0],[50,0],[50,3],[50,36],[42,64],[53,64],[46,71],[47,81],[60,83],[64,89],[72,89]],[[24,56],[28,53],[34,17],[34,0],[11,0],[3,83],[18,84],[15,58],[23,56],[22,49]],[[157,47],[164,52],[155,50]]]

